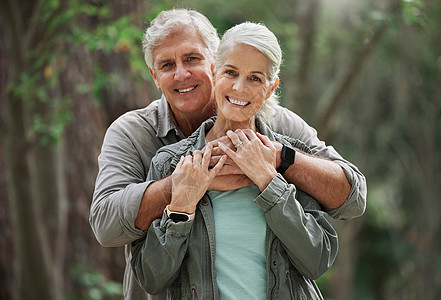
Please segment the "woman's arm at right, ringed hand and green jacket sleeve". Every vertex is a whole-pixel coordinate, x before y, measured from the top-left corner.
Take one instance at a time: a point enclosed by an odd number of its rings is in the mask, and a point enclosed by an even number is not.
[[[250,130],[230,135],[233,143],[239,138],[243,145],[236,152],[223,144],[220,148],[259,186],[262,193],[255,201],[265,211],[268,225],[292,263],[306,277],[320,277],[331,267],[338,248],[337,234],[326,213],[312,197],[276,172],[275,149],[268,137]]]

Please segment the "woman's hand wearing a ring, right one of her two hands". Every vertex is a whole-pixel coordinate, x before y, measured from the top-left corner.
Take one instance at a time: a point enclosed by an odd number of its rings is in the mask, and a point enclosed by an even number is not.
[[[228,131],[236,152],[219,142],[219,148],[228,155],[261,191],[277,175],[276,148],[268,137],[251,129]]]

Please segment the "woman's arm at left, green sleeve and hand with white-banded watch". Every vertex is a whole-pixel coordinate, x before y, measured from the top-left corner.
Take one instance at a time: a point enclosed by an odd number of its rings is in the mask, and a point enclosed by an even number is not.
[[[193,156],[181,157],[171,175],[172,199],[170,210],[192,214],[196,205],[226,157],[209,169],[211,146],[203,155],[196,150]],[[152,160],[148,180],[164,177],[173,157],[159,152]],[[161,219],[153,221],[146,237],[132,243],[132,269],[138,282],[151,294],[159,293],[175,280],[185,254],[194,221],[175,222],[164,212]]]

